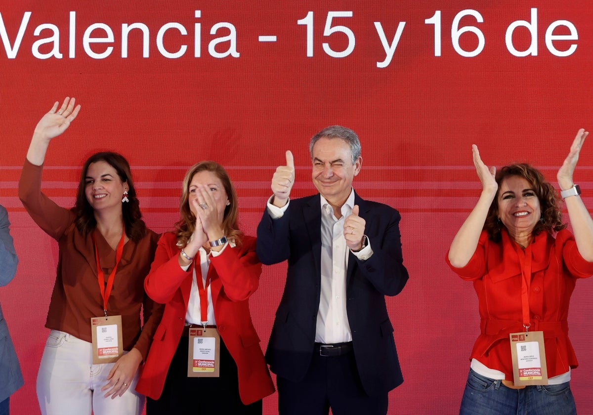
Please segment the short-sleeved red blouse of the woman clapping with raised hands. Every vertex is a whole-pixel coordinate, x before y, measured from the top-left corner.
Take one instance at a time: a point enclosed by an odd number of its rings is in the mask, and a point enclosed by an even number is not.
[[[509,333],[524,331],[521,304],[521,264],[514,244],[503,229],[500,242],[482,231],[476,252],[463,268],[451,266],[461,278],[471,280],[478,295],[480,336],[471,358],[513,380]],[[576,368],[575,350],[568,339],[570,295],[579,278],[593,274],[593,263],[585,261],[573,235],[563,229],[556,238],[541,232],[531,242],[532,264],[529,293],[530,331],[544,332],[548,376]]]

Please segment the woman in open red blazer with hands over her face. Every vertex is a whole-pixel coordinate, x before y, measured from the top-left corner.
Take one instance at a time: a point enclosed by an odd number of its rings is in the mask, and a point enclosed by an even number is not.
[[[187,171],[180,210],[177,231],[162,235],[145,280],[146,293],[165,311],[136,390],[148,396],[148,415],[261,414],[274,385],[248,298],[262,265],[256,239],[238,230],[237,194],[221,165],[203,161]],[[196,345],[192,359],[190,344]],[[188,376],[211,375],[212,365],[218,376]]]

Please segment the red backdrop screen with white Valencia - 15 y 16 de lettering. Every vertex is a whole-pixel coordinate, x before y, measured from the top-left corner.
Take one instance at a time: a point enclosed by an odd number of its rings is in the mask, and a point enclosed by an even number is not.
[[[20,257],[0,299],[25,376],[15,414],[39,412],[57,261],[17,183],[37,120],[66,95],[82,109],[50,145],[43,190],[71,207],[84,159],[113,149],[129,159],[157,232],[178,219],[186,168],[214,159],[254,234],[285,150],[304,196],[314,191],[309,138],[333,124],[355,130],[356,190],[400,210],[410,272],[387,299],[405,379],[389,413],[457,413],[479,319],[471,284],[444,256],[479,195],[471,144],[489,165],[528,161],[555,182],[576,131],[593,129],[589,1],[21,1],[0,15],[0,203]],[[588,206],[592,169],[585,143],[575,181]],[[284,276],[285,264],[264,267],[251,299],[263,348]],[[579,282],[570,310],[579,413],[593,413],[592,297]],[[264,413],[276,402],[266,398]]]

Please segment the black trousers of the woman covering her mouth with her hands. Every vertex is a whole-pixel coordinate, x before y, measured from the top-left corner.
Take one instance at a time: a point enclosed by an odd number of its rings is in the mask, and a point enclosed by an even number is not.
[[[158,400],[146,399],[146,415],[262,415],[262,401],[244,405],[239,397],[237,365],[221,339],[220,377],[188,378],[189,342],[181,337]]]

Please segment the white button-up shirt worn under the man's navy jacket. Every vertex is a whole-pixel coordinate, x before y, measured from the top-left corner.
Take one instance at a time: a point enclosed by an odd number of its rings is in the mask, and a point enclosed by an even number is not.
[[[270,198],[271,200],[272,198]],[[346,312],[346,270],[350,251],[344,237],[344,221],[352,213],[354,189],[341,207],[342,217],[336,218],[333,209],[323,196],[321,199],[321,296],[317,311],[315,341],[331,344],[352,341],[352,332]],[[267,204],[272,219],[283,216],[288,203],[283,207]],[[358,252],[352,252],[362,260],[371,257],[371,243]]]

